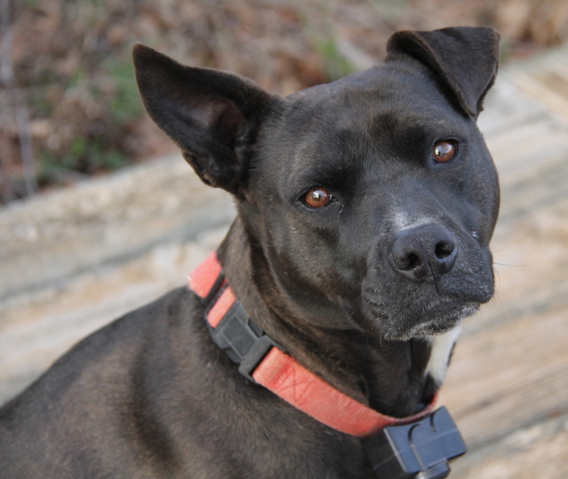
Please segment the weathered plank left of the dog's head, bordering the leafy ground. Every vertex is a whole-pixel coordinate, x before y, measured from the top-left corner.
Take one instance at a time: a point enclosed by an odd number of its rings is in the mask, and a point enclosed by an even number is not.
[[[231,196],[205,186],[180,154],[11,204],[0,211],[3,303],[172,238],[234,218]]]

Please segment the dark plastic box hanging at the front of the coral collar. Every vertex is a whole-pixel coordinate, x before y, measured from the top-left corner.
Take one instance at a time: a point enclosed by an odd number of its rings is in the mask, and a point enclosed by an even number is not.
[[[364,442],[378,478],[442,479],[449,461],[463,455],[466,445],[445,407],[420,421],[387,426]]]

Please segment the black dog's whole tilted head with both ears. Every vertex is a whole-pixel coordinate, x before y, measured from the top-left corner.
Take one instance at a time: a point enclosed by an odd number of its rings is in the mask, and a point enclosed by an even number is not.
[[[236,197],[266,302],[390,339],[493,296],[498,180],[476,117],[497,58],[489,28],[399,32],[382,65],[281,98],[134,50],[149,114]]]

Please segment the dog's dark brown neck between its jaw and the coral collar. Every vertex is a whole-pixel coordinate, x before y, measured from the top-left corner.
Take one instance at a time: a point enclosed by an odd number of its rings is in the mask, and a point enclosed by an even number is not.
[[[361,331],[322,329],[279,316],[269,306],[270,288],[261,293],[257,287],[259,278],[251,263],[254,260],[258,268],[262,253],[255,248],[237,217],[219,256],[236,297],[263,331],[313,373],[382,414],[406,417],[431,402],[442,380],[438,371],[447,363],[447,357],[445,363],[434,355],[430,360],[435,341],[376,340]],[[442,356],[449,356],[450,350]],[[427,368],[436,368],[437,373],[428,374]]]

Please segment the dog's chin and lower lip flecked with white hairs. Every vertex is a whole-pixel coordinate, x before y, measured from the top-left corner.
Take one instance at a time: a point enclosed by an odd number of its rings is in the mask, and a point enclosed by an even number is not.
[[[467,316],[479,310],[477,302],[458,302],[456,299],[439,298],[422,304],[420,309],[388,308],[372,299],[366,302],[366,323],[372,333],[393,341],[435,336],[447,333],[461,324]]]

